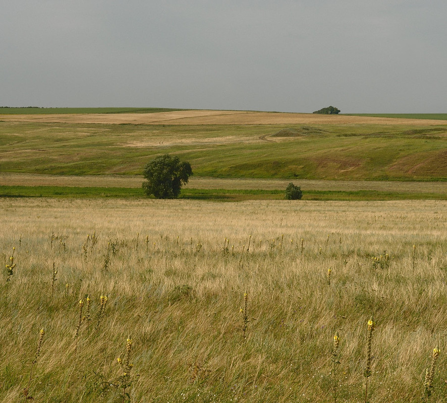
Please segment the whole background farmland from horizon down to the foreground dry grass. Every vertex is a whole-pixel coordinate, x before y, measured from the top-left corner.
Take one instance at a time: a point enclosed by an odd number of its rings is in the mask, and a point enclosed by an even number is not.
[[[140,197],[128,188],[141,186],[149,160],[170,153],[192,165],[195,175],[183,192],[192,199],[280,199],[289,181],[307,199],[447,197],[439,185],[447,182],[445,120],[56,109],[0,109],[2,195]]]

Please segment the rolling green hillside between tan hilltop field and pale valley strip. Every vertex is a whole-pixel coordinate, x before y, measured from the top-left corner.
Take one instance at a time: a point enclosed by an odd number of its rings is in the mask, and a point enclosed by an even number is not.
[[[446,125],[132,125],[0,122],[0,171],[140,174],[164,153],[195,175],[446,180]]]

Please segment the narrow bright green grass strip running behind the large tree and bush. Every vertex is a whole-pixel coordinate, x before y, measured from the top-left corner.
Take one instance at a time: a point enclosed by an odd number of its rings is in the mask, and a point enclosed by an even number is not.
[[[122,187],[63,186],[0,186],[0,197],[54,198],[145,198],[142,189]],[[183,189],[180,198],[198,200],[241,201],[253,199],[284,199],[283,190]],[[445,200],[447,194],[399,193],[376,190],[336,191],[311,190],[303,200]]]

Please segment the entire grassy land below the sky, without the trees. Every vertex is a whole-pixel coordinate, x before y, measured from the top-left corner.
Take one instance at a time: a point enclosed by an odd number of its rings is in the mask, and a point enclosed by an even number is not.
[[[0,403],[445,400],[440,116],[7,109]]]

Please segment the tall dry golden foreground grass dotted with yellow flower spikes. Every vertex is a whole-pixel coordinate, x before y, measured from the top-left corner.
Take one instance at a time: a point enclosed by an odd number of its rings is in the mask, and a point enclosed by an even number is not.
[[[369,402],[419,402],[434,348],[447,395],[445,201],[0,210],[2,402],[356,402],[365,366]]]

